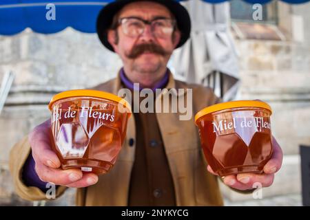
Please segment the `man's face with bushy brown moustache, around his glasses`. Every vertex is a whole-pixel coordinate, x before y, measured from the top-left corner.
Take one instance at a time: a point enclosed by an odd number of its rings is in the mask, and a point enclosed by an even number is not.
[[[161,4],[141,1],[125,5],[118,19],[126,17],[138,17],[152,21],[158,17],[172,19],[172,14]],[[127,69],[140,73],[154,73],[166,67],[180,40],[178,30],[166,37],[158,37],[154,35],[150,25],[145,25],[143,34],[135,37],[125,34],[121,25],[118,26],[116,32],[114,30],[108,32],[108,40],[114,47],[114,51],[121,56]],[[118,38],[117,42],[116,38]]]

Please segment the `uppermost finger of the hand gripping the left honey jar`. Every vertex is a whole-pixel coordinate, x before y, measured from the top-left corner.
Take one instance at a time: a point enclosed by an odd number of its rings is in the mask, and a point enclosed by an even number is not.
[[[51,168],[59,168],[61,162],[56,153],[52,151],[50,120],[40,124],[28,136],[32,156],[36,163],[45,164]]]

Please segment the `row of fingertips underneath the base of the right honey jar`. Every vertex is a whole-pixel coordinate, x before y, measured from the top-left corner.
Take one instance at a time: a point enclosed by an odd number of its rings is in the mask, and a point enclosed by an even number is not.
[[[223,177],[223,181],[227,186],[236,188],[238,190],[248,190],[256,188],[258,184],[261,187],[271,186],[273,183],[273,174],[253,174],[241,173],[238,175],[228,175]]]

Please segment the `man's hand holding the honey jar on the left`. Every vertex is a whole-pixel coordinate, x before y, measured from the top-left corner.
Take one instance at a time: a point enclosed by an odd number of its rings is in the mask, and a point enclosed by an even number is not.
[[[52,151],[52,133],[50,120],[35,127],[28,136],[32,157],[36,162],[35,170],[40,179],[56,185],[68,187],[87,187],[96,184],[98,176],[94,173],[82,173],[80,169],[62,170],[61,162]]]

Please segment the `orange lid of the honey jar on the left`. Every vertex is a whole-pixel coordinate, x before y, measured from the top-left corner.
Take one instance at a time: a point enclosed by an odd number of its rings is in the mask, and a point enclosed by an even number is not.
[[[65,98],[74,98],[74,97],[83,97],[83,96],[89,96],[93,98],[104,98],[107,100],[111,100],[114,102],[122,103],[127,109],[131,109],[130,104],[123,98],[116,96],[114,94],[110,94],[105,91],[98,91],[98,90],[92,90],[92,89],[76,89],[76,90],[69,90],[69,91],[63,91],[59,94],[56,94],[52,97],[50,100],[50,104],[48,104],[48,108],[52,110],[52,105],[54,102],[65,99]],[[130,110],[131,112],[131,110]]]

